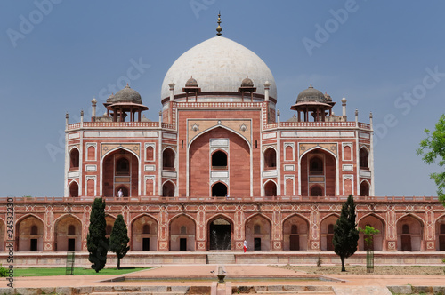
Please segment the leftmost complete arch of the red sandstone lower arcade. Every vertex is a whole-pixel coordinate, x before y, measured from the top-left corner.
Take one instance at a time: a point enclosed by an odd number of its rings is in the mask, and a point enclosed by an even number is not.
[[[44,251],[44,222],[34,215],[27,215],[16,223],[18,251]]]

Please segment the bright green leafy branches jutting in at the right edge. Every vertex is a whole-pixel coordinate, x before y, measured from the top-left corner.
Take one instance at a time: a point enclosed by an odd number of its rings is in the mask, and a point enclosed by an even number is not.
[[[427,164],[436,163],[439,158],[439,166],[445,165],[445,114],[439,118],[436,129],[431,133],[425,129],[426,138],[420,141],[420,148],[417,155],[422,155],[422,160]],[[445,205],[445,172],[431,173],[430,178],[434,179],[437,186],[437,195],[441,203]]]

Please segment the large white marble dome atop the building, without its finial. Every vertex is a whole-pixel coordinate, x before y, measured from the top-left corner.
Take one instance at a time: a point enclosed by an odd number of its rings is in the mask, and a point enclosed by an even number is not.
[[[162,83],[161,99],[180,94],[193,76],[201,92],[239,92],[247,76],[254,82],[255,93],[264,94],[264,82],[271,84],[269,96],[277,99],[277,85],[271,70],[254,52],[223,36],[210,38],[184,52],[170,67]]]

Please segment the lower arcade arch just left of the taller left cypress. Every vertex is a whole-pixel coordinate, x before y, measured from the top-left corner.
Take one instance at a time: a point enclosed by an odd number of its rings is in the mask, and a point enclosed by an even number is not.
[[[54,222],[54,251],[82,251],[82,222],[64,215]]]

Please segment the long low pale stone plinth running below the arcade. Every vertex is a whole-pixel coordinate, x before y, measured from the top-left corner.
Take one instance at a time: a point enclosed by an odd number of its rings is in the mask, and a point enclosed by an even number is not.
[[[218,259],[221,256],[221,259]],[[6,261],[7,253],[0,253]],[[67,252],[15,252],[14,267],[64,267]],[[375,265],[443,266],[445,251],[375,251]],[[276,264],[316,266],[341,265],[334,251],[130,251],[122,259],[122,267],[148,265],[203,265],[203,264]],[[366,251],[357,251],[349,258],[350,265],[365,265]],[[108,266],[117,264],[116,256],[108,254]],[[76,266],[89,267],[88,253],[76,252]]]

